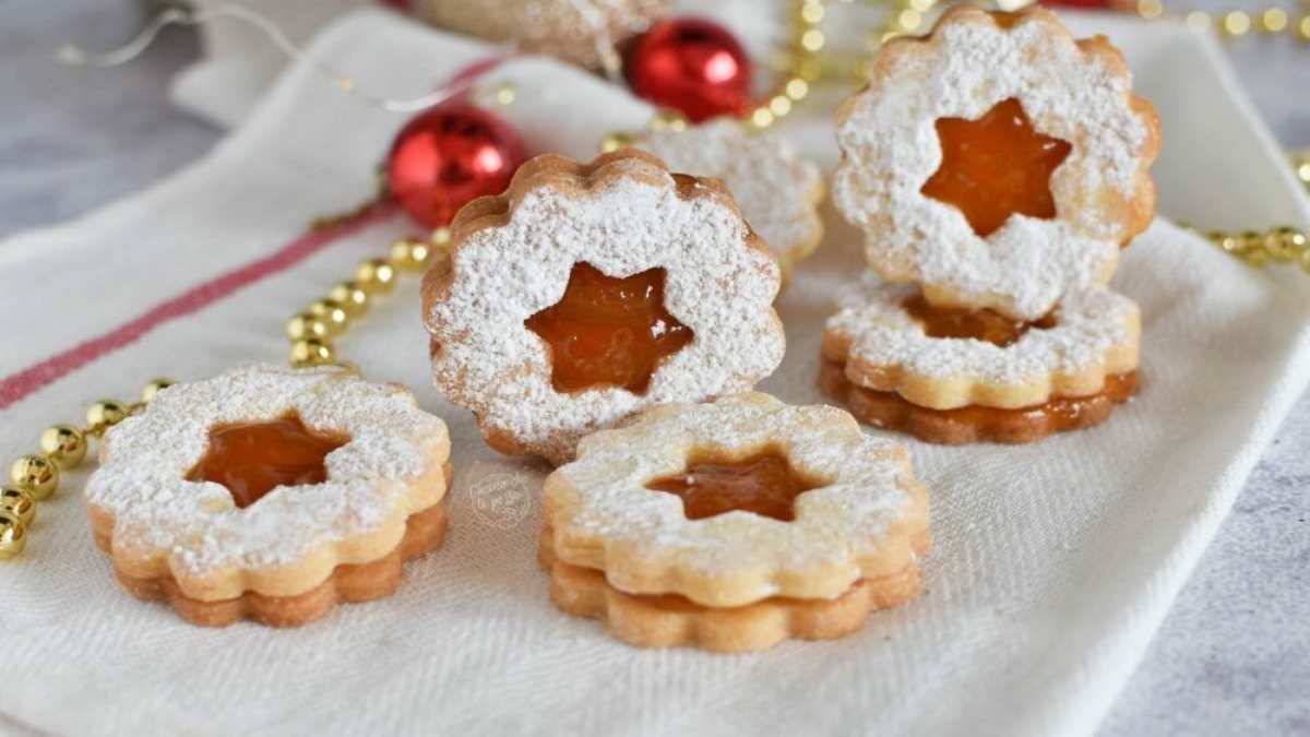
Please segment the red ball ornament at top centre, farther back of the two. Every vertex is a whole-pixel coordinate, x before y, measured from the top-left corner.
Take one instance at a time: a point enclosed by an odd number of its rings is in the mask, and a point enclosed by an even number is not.
[[[751,67],[726,28],[698,18],[652,25],[624,60],[627,84],[638,97],[697,123],[749,110]]]

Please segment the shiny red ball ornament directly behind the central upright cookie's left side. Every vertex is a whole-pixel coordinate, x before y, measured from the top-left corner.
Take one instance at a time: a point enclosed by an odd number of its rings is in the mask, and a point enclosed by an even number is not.
[[[527,159],[507,123],[468,104],[439,105],[401,129],[386,156],[386,188],[428,228],[483,194],[500,194]]]

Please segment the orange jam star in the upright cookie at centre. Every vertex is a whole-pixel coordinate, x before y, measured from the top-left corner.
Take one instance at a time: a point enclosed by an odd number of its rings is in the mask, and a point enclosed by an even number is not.
[[[550,346],[550,383],[558,392],[621,387],[643,393],[660,359],[693,338],[664,309],[664,269],[617,279],[584,262],[574,265],[563,298],[524,325]]]

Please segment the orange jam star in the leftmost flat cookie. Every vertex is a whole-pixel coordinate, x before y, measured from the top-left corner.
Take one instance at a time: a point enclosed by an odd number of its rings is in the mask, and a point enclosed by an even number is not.
[[[210,448],[186,480],[223,484],[244,509],[278,487],[326,481],[324,459],[347,442],[310,431],[296,414],[219,425],[210,429]]]

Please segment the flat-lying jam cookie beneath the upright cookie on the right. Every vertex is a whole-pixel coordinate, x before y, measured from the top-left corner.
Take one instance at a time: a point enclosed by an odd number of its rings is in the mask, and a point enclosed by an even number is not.
[[[838,298],[820,386],[862,421],[937,443],[1023,443],[1095,425],[1137,389],[1137,306],[1103,287],[1038,323],[931,307],[866,277]]]

